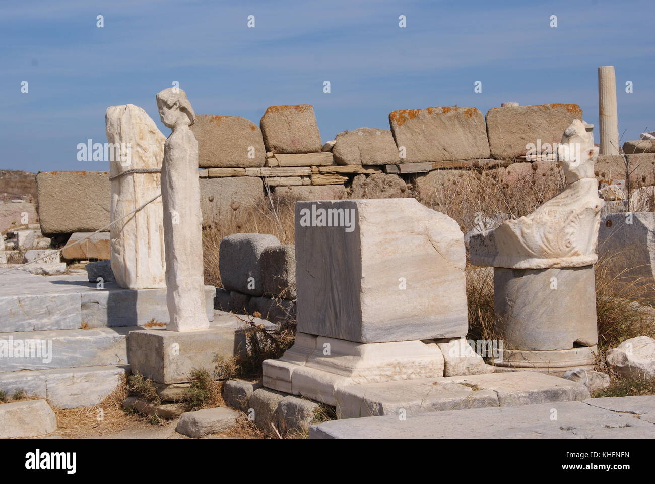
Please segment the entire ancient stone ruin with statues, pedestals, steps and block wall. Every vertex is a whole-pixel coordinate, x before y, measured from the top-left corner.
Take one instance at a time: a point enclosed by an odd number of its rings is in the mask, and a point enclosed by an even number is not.
[[[597,301],[608,300],[596,291],[602,270],[655,294],[652,212],[608,212],[655,186],[646,171],[616,180],[620,163],[652,158],[648,133],[612,154],[614,121],[601,119],[599,154],[576,104],[508,102],[486,116],[392,111],[388,130],[323,143],[309,104],[271,106],[257,125],[196,115],[179,87],[156,102],[167,138],[142,108],[107,108],[109,171],[39,173],[39,224],[0,238],[0,400],[18,395],[0,403],[1,437],[56,432],[51,407],[102,407],[125,378],[124,409],[195,438],[237,426],[473,436],[476,425],[500,437],[576,437],[576,425],[652,437],[653,397],[591,398],[610,385],[605,371],[655,378],[650,336],[599,355]],[[543,187],[560,174],[561,190],[532,212],[474,227],[421,203],[458,184]],[[263,201],[295,204],[293,243],[291,232],[233,231],[207,253],[210,230],[238,227]],[[627,264],[603,262],[631,245]],[[221,287],[206,284],[212,271]],[[472,274],[493,281],[491,319],[472,306],[483,296]],[[480,321],[493,334],[468,339]],[[566,422],[544,423],[552,409]]]

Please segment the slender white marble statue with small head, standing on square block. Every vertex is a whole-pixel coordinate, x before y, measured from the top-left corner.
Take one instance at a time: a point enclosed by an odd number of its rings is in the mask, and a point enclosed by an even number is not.
[[[195,113],[179,88],[157,94],[162,123],[173,131],[164,143],[162,203],[169,331],[209,327],[205,310],[198,142],[189,125]]]

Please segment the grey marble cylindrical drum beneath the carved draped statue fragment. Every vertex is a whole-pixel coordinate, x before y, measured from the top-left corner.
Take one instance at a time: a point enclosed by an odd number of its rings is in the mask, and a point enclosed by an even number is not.
[[[496,328],[521,350],[571,350],[598,342],[593,266],[494,268]]]

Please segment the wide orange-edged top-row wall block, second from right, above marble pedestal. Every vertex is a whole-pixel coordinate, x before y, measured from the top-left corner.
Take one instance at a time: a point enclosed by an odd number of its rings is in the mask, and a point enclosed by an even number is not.
[[[389,124],[403,163],[489,158],[485,119],[477,108],[393,111]]]

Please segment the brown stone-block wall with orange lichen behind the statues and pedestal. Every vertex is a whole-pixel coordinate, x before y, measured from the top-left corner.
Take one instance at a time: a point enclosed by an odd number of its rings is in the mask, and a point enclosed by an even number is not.
[[[577,104],[493,108],[486,117],[457,106],[400,110],[389,114],[388,130],[343,131],[322,145],[309,104],[271,106],[259,126],[242,117],[198,115],[192,129],[204,224],[245,211],[268,193],[293,200],[408,197],[413,187],[420,198],[421,190],[480,172],[508,183],[555,176],[552,156],[528,153],[528,145],[552,149],[581,117]],[[630,156],[643,165],[639,182],[652,184],[655,153]],[[620,160],[599,162],[599,180],[625,178]],[[42,232],[93,232],[108,224],[108,178],[107,172],[39,173]]]

